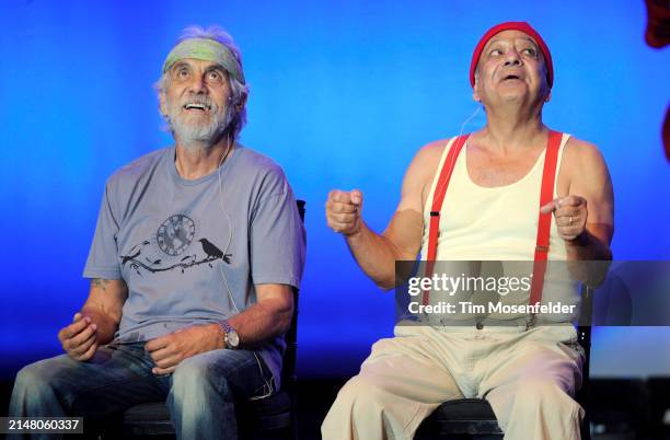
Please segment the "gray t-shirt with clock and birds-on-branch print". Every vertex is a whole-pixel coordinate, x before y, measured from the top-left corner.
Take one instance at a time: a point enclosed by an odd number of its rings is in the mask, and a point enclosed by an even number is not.
[[[304,229],[281,169],[244,147],[211,174],[184,180],[174,147],[116,171],[83,276],[124,279],[119,343],[219,322],[256,302],[254,285],[300,285]],[[258,351],[279,383],[282,337]]]

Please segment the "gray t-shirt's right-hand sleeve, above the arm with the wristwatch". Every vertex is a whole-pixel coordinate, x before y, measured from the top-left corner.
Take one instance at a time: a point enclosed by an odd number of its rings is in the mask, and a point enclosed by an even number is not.
[[[282,173],[280,178],[279,192],[262,197],[252,212],[252,280],[255,285],[279,283],[300,288],[305,232],[296,198]]]

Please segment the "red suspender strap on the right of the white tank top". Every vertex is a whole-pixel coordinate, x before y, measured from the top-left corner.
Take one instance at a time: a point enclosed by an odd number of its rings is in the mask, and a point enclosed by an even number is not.
[[[544,170],[542,172],[540,207],[554,199],[554,181],[556,177],[558,149],[561,148],[562,138],[563,135],[561,132],[550,131],[550,139],[546,146],[546,153],[544,155]],[[538,241],[535,244],[533,280],[531,282],[531,294],[529,301],[529,304],[531,305],[542,302],[542,288],[544,287],[544,274],[546,271],[546,258],[548,256],[548,242],[553,215],[553,212],[540,213],[538,219]]]

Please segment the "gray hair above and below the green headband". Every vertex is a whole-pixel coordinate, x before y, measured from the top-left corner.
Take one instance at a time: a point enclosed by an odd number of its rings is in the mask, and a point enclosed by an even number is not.
[[[226,32],[220,26],[209,26],[204,28],[201,26],[192,25],[187,26],[182,31],[182,35],[177,38],[177,40],[172,46],[178,45],[185,39],[190,38],[206,38],[212,39],[217,43],[226,46],[231,54],[236,58],[240,67],[242,67],[242,54],[240,53],[240,48],[235,45],[232,37],[228,32]],[[161,76],[161,78],[155,82],[154,89],[157,93],[164,93],[165,89],[170,84],[170,76],[169,72],[165,72]],[[226,127],[232,135],[233,139],[238,139],[240,136],[240,131],[246,124],[246,96],[249,96],[249,86],[246,84],[241,83],[236,79],[234,79],[231,74],[228,74],[228,85],[230,86],[231,101],[229,104],[228,112],[231,112],[230,124]],[[163,115],[165,117],[165,115]]]

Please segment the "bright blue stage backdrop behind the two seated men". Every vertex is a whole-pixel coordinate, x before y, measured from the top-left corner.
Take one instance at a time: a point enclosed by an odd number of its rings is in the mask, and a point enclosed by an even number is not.
[[[417,149],[475,111],[467,68],[493,24],[531,22],[554,54],[545,123],[597,143],[614,181],[619,259],[670,257],[670,166],[660,127],[670,48],[646,46],[638,1],[43,1],[0,5],[0,362],[59,351],[105,178],[171,138],[152,83],[188,24],[220,24],[251,85],[243,143],[279,162],[307,200],[299,373],[353,374],[392,334],[393,297],[325,224],[332,188],[360,188],[382,230]],[[465,130],[484,123],[482,113]],[[643,341],[640,344],[640,340]],[[594,374],[670,373],[661,328],[600,328]],[[628,362],[614,367],[621,354]]]

